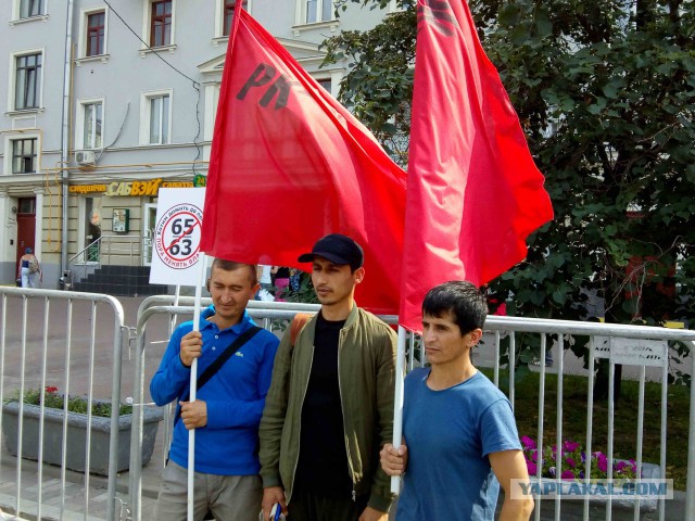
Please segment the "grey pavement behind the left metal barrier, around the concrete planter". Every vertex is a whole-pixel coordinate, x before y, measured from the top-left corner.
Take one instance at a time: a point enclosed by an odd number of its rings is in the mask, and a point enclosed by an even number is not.
[[[125,325],[136,326],[138,307],[143,297],[118,297],[123,308]],[[75,301],[72,307],[72,323],[68,328],[66,301],[51,301],[49,318],[49,350],[47,353],[47,385],[56,385],[64,390],[65,381],[65,340],[70,329],[73,352],[70,358],[70,393],[74,395],[86,394],[88,390],[89,374],[89,339],[91,336],[91,307],[88,303]],[[8,330],[4,332],[5,356],[3,359],[4,396],[16,393],[20,386],[21,345],[23,331],[21,301],[9,301],[7,313]],[[42,365],[40,353],[43,342],[43,298],[28,300],[28,328],[26,331],[26,367],[24,371],[25,389],[40,386],[40,368]],[[189,317],[181,317],[179,321]],[[92,377],[92,391],[96,398],[110,398],[112,394],[113,360],[113,331],[114,315],[110,306],[99,304],[97,306],[97,331],[94,341],[94,364]],[[127,336],[127,335],[126,335]],[[148,325],[148,344],[146,347],[146,385],[143,401],[151,401],[148,382],[156,370],[162,354],[168,340],[168,323],[164,316],[153,317]],[[135,348],[135,343],[131,348]],[[124,341],[124,351],[121,359],[122,387],[121,401],[132,396],[132,382],[135,377],[134,354],[127,341]],[[159,474],[162,468],[163,452],[162,435],[163,422],[160,423],[157,444],[151,462],[143,467],[142,491],[142,520],[152,519],[156,491],[159,488]],[[70,441],[68,441],[70,443]],[[123,503],[127,503],[128,472],[118,476],[117,494]],[[26,517],[36,517],[38,499],[38,469],[35,461],[22,460],[21,486],[16,483],[16,458],[11,456],[4,444],[0,453],[0,509],[14,512],[16,508],[17,488],[21,491],[21,511],[27,512]],[[89,517],[87,519],[105,519],[108,480],[105,476],[92,475],[89,479],[89,493],[85,494],[85,474],[66,471],[64,486],[64,503],[61,505],[61,469],[51,465],[43,466],[42,476],[42,518],[43,519],[85,519],[85,503],[88,498]],[[121,501],[117,501],[117,507]],[[31,513],[34,512],[34,513]],[[2,519],[2,518],[0,518]],[[124,516],[126,519],[125,506]]]

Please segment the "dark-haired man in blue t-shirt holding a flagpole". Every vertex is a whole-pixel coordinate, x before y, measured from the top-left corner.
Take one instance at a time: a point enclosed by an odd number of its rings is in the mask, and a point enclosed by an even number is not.
[[[405,379],[404,443],[381,450],[387,474],[405,473],[397,521],[492,521],[500,484],[500,519],[531,516],[533,499],[513,483],[529,476],[511,406],[470,360],[486,315],[485,298],[470,282],[446,282],[425,297],[422,342],[431,367]],[[513,499],[513,491],[522,498]]]

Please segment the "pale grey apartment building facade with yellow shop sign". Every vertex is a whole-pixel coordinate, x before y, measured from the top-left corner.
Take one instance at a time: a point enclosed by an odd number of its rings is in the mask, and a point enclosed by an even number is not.
[[[66,269],[147,267],[159,189],[207,173],[235,1],[8,1],[0,283],[26,247],[43,288]],[[351,4],[336,18],[332,0],[243,3],[333,94],[346,64],[321,68],[319,43],[396,9]]]

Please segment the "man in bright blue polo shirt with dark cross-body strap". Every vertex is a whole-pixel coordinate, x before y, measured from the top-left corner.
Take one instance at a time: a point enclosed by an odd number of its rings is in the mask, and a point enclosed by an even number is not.
[[[245,310],[258,290],[255,266],[217,258],[207,289],[213,305],[201,313],[200,331],[192,331],[192,321],[174,331],[150,383],[157,405],[177,401],[180,406],[155,518],[170,521],[187,517],[188,430],[197,429],[194,519],[203,519],[211,511],[216,519],[255,521],[263,497],[258,423],[279,341],[273,333],[255,328]],[[195,402],[188,402],[193,359],[198,358],[200,379],[252,328],[256,330],[253,336],[204,385],[199,385]]]

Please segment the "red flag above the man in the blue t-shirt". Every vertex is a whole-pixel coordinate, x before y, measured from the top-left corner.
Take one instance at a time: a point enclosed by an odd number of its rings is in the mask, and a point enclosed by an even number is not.
[[[553,218],[507,93],[464,0],[418,0],[400,323],[419,331],[427,291],[482,284],[526,257]]]

